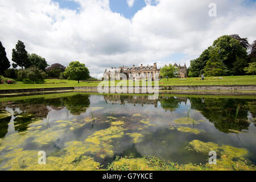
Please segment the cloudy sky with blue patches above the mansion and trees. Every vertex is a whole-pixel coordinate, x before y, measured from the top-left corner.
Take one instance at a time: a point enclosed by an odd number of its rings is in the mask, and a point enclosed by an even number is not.
[[[10,61],[22,40],[49,65],[77,60],[100,78],[122,65],[188,67],[222,35],[253,43],[255,19],[255,0],[0,0],[0,41]]]

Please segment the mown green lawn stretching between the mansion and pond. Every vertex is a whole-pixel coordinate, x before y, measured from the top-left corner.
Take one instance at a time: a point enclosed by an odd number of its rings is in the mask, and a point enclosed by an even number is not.
[[[119,81],[115,81],[118,84]],[[57,88],[69,86],[97,86],[99,82],[80,82],[73,80],[44,80],[41,84],[27,84],[25,82],[17,82],[16,84],[0,84],[0,90],[3,89],[30,89],[30,88]],[[131,81],[130,83],[136,84],[138,82]],[[141,82],[139,83],[141,85]],[[110,85],[110,84],[109,84]],[[128,84],[127,84],[128,85]],[[154,85],[154,82],[152,83]],[[166,78],[159,81],[159,86],[172,86],[172,85],[256,85],[255,76],[223,76],[223,77],[205,77],[201,78]]]

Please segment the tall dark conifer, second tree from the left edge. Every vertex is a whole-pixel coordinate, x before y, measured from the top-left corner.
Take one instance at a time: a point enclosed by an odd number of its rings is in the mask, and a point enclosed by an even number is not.
[[[23,42],[18,40],[18,43],[15,46],[15,49],[13,49],[13,58],[11,59],[14,61],[13,67],[21,67],[28,68],[31,66],[30,61],[28,60],[27,51],[25,49],[25,45]]]

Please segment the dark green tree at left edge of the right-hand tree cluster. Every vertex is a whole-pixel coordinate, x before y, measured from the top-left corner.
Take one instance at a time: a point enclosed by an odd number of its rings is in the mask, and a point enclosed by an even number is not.
[[[208,47],[203,53],[201,53],[199,58],[190,61],[190,67],[188,72],[189,77],[199,77],[204,73],[204,67],[209,60],[211,49],[212,47]]]

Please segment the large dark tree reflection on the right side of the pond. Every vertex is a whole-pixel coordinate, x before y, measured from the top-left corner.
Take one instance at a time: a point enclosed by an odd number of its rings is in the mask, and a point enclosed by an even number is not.
[[[189,100],[191,109],[200,110],[205,118],[214,123],[216,129],[224,133],[232,132],[230,130],[248,130],[250,123],[247,122],[246,100],[205,98],[204,103],[201,102],[201,98],[190,98]],[[238,106],[240,109],[236,119]]]

